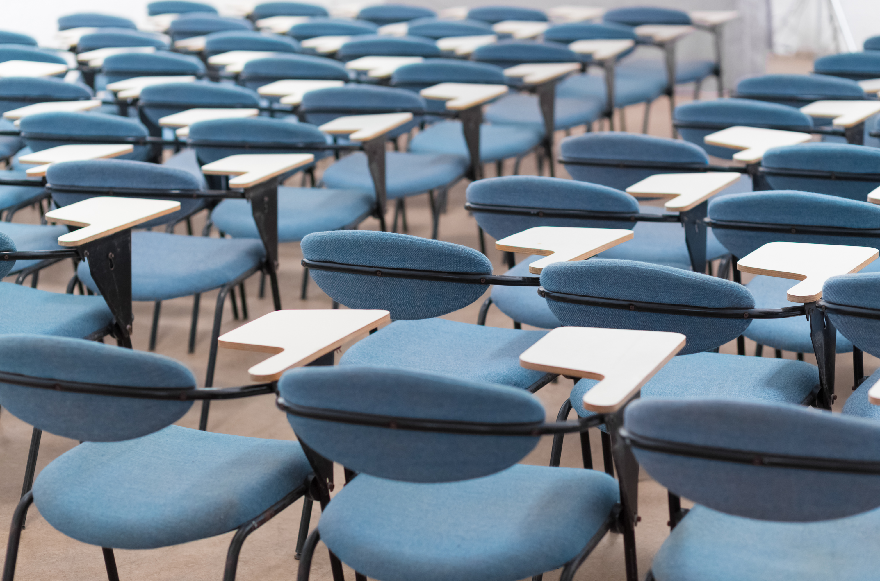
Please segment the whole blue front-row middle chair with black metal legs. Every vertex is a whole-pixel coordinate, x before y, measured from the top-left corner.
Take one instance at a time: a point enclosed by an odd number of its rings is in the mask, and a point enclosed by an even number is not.
[[[278,387],[297,439],[358,473],[324,503],[298,581],[308,580],[319,540],[361,579],[513,581],[564,566],[568,581],[615,524],[627,578],[637,576],[620,484],[593,470],[516,463],[539,437],[501,435],[501,426],[531,425],[534,434],[553,426],[542,425],[531,394],[370,367],[297,369]],[[496,426],[498,435],[484,435]]]

